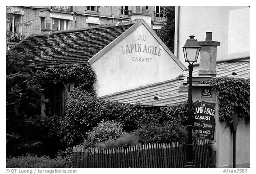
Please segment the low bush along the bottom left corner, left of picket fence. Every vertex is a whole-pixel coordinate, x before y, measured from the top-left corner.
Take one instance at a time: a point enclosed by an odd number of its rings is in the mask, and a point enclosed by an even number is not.
[[[6,168],[72,168],[72,162],[66,159],[51,159],[48,156],[19,156],[6,159]]]

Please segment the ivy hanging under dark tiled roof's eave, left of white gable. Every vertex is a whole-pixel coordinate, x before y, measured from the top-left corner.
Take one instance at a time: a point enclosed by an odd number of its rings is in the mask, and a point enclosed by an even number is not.
[[[96,73],[88,63],[79,66],[50,67],[44,70],[41,83],[43,85],[61,85],[72,83],[87,92],[93,92]]]

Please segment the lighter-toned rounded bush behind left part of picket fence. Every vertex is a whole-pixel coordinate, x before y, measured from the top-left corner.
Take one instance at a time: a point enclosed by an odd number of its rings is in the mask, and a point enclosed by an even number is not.
[[[84,141],[85,146],[93,147],[96,143],[108,139],[118,139],[123,134],[122,124],[116,121],[101,121],[92,131],[89,131],[88,138]]]

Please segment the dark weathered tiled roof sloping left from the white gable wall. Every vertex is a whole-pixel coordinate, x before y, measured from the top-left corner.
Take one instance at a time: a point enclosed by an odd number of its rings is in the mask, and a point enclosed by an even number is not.
[[[31,35],[12,50],[32,51],[38,67],[77,65],[87,62],[138,20]]]

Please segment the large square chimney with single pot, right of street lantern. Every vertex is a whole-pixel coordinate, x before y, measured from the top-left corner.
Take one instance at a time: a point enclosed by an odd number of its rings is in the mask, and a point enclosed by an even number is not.
[[[199,42],[200,64],[199,76],[216,77],[217,46],[220,42],[212,41],[212,32],[206,32],[205,41]]]

